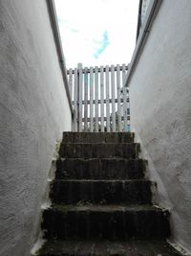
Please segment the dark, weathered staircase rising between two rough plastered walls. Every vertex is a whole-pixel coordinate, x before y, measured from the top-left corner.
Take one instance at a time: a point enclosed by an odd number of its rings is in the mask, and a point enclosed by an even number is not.
[[[39,256],[175,256],[133,133],[64,132]]]

